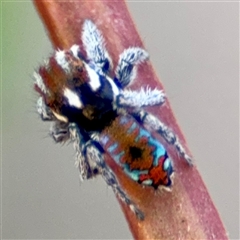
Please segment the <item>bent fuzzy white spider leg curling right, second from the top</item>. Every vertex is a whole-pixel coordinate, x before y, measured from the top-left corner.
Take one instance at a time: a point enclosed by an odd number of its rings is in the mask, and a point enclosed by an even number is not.
[[[136,65],[148,59],[148,53],[139,47],[131,47],[123,51],[116,67],[115,82],[121,88],[126,87],[135,78]]]

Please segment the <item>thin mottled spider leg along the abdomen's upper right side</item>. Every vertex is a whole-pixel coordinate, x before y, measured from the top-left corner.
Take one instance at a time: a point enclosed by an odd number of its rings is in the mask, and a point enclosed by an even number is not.
[[[178,154],[182,156],[189,165],[193,164],[192,158],[186,153],[186,150],[179,142],[178,137],[174,134],[174,132],[166,126],[162,121],[153,116],[152,114],[144,111],[144,110],[135,110],[133,113],[134,117],[137,121],[142,123],[147,129],[152,131],[156,131],[159,133],[169,144],[173,145]]]

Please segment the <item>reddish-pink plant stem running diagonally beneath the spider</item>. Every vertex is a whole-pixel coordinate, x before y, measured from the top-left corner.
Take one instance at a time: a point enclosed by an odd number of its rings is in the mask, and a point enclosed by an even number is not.
[[[143,46],[124,1],[35,0],[34,4],[54,48],[68,49],[73,44],[81,45],[81,28],[85,19],[93,20],[103,33],[115,66],[119,54],[125,48]],[[132,88],[146,85],[163,88],[150,63],[144,63],[144,66],[139,68]],[[161,108],[151,107],[149,111],[154,111],[154,115],[170,126],[186,147],[168,101]],[[134,238],[228,239],[196,167],[189,167],[183,159],[179,159],[173,147],[166,148],[174,159],[175,178],[172,192],[156,193],[150,187],[143,188],[126,177],[110,157],[106,159],[124,191],[145,213],[146,219],[140,222],[129,208],[119,201]]]

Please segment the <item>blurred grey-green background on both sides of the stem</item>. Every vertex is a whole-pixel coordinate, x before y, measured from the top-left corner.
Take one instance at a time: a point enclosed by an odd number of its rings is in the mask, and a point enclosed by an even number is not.
[[[230,239],[239,239],[239,4],[128,2]],[[1,4],[3,239],[131,239],[112,190],[48,137],[32,73],[52,52],[30,1]],[[198,186],[196,186],[198,187]]]

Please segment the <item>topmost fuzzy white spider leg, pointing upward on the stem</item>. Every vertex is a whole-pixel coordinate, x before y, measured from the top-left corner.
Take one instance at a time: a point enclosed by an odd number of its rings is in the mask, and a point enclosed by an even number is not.
[[[101,32],[91,20],[85,20],[82,30],[82,42],[88,59],[107,73],[112,65],[112,60],[105,48]]]

